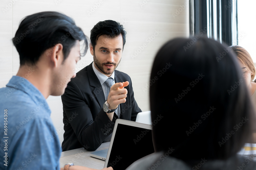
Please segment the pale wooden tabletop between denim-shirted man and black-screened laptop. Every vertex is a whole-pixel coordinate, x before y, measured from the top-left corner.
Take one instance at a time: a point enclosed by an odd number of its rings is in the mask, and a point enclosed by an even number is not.
[[[109,148],[110,142],[105,142],[100,145],[96,151]],[[73,163],[74,165],[86,166],[89,168],[102,169],[104,167],[105,161],[90,156],[91,152],[84,148],[73,149],[69,151],[64,151],[61,153],[60,157],[60,167],[64,167],[67,163]]]

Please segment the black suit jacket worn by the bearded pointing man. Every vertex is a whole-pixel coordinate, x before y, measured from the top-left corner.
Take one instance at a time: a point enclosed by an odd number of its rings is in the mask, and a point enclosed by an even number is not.
[[[110,121],[102,109],[105,96],[92,64],[80,70],[77,76],[71,79],[61,96],[65,130],[63,151],[81,147],[96,150],[103,141],[110,141],[114,122],[118,119],[114,113],[114,118]],[[131,78],[115,70],[115,82],[125,81],[129,81],[129,85],[125,87],[128,94],[126,102],[120,104],[120,119],[135,121],[141,109],[134,99]]]

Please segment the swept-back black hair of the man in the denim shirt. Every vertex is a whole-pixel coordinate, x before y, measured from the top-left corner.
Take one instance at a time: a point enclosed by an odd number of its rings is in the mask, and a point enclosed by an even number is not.
[[[76,40],[84,41],[84,51],[81,53],[81,56],[84,56],[88,48],[86,35],[72,18],[52,11],[25,17],[12,39],[19,53],[20,65],[34,65],[45,50],[58,43],[63,45],[65,60]]]

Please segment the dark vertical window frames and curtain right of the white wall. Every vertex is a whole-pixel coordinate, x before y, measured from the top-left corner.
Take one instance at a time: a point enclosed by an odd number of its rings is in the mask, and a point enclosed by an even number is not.
[[[191,36],[203,32],[209,38],[215,38],[229,46],[237,44],[237,1],[190,0],[189,13]],[[214,17],[217,18],[217,22],[214,22]]]

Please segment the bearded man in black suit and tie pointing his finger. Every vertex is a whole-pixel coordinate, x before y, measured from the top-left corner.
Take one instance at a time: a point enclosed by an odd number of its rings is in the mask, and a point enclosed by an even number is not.
[[[62,150],[96,150],[111,139],[115,120],[136,120],[138,107],[130,76],[115,70],[125,44],[123,25],[100,21],[91,30],[93,62],[68,83],[63,103]],[[126,132],[124,132],[126,133]]]

